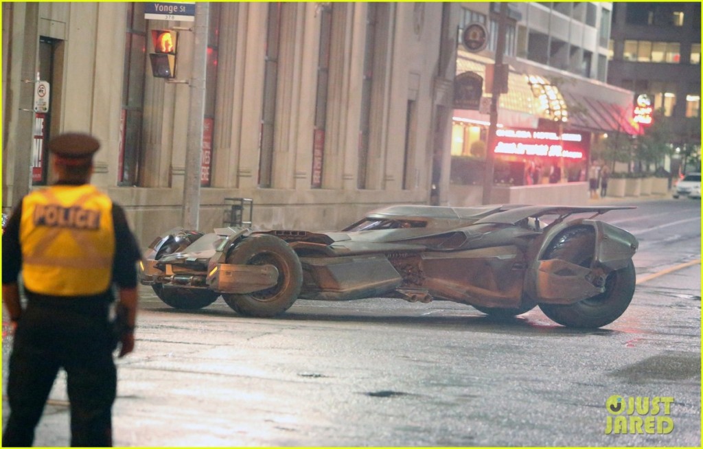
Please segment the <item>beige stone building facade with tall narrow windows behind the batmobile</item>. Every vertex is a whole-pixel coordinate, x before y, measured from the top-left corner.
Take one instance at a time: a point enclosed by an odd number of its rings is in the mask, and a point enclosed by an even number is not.
[[[146,245],[181,226],[188,123],[203,120],[200,228],[225,199],[257,228],[331,230],[394,203],[446,204],[457,22],[435,3],[211,3],[205,117],[193,22],[143,3],[3,4],[3,209],[53,181],[46,141],[97,136],[93,183]],[[175,79],[153,30],[177,32]],[[37,110],[38,80],[49,101]]]

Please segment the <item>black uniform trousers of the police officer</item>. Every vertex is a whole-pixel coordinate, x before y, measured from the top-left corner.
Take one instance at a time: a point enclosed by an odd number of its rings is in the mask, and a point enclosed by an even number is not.
[[[63,301],[63,304],[62,302]],[[117,370],[107,301],[30,299],[15,330],[3,446],[30,446],[58,370],[66,372],[71,445],[112,445]]]

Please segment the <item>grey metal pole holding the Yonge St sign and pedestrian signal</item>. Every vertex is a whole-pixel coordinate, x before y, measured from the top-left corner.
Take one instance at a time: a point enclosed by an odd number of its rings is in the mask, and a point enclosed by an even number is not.
[[[207,70],[207,22],[209,4],[195,4],[193,25],[193,72],[188,109],[188,141],[186,142],[186,179],[183,184],[183,227],[199,228],[200,167],[202,165],[202,128],[205,117],[205,74]]]

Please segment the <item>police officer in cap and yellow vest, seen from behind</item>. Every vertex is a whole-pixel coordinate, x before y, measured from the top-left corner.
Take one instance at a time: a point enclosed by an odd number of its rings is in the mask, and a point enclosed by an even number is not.
[[[134,349],[141,255],[123,209],[89,184],[99,147],[87,134],[51,139],[58,182],[23,197],[3,234],[2,300],[15,334],[3,446],[32,445],[60,368],[67,376],[71,445],[112,445],[112,351],[117,342],[119,357]],[[119,334],[108,318],[113,285]]]

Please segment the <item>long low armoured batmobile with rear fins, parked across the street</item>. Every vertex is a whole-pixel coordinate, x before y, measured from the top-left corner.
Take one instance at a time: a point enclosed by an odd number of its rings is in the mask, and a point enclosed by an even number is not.
[[[297,298],[396,297],[500,316],[539,306],[561,325],[601,327],[635,291],[636,238],[595,219],[614,209],[632,207],[397,205],[338,232],[174,228],[139,275],[181,309],[221,296],[240,315],[271,317]]]

